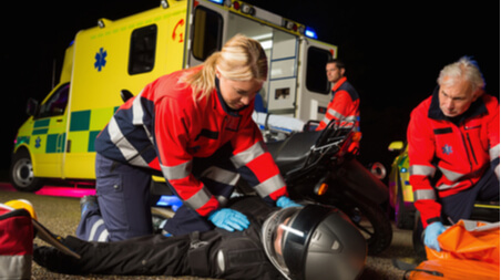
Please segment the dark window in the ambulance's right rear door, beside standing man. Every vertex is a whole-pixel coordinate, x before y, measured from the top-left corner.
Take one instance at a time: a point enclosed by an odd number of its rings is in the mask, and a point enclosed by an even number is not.
[[[308,65],[306,69],[306,87],[308,91],[329,94],[330,85],[325,74],[325,65],[333,55],[329,51],[310,46],[308,49]]]

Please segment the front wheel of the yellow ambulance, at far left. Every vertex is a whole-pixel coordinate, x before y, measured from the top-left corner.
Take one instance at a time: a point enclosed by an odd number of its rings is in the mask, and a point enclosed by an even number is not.
[[[10,182],[19,191],[34,193],[43,187],[43,179],[34,177],[30,154],[24,149],[12,157]]]

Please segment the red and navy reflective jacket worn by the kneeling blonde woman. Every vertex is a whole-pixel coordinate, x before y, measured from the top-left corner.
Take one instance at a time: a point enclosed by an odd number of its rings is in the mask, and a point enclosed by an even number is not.
[[[219,203],[192,174],[193,159],[208,157],[223,145],[231,145],[229,160],[263,198],[273,203],[286,195],[279,169],[252,120],[253,106],[232,111],[217,90],[195,98],[192,89],[180,82],[184,73],[157,79],[123,104],[98,136],[96,152],[162,170],[184,204],[201,216],[217,209]],[[209,176],[234,185],[238,174],[216,168]]]

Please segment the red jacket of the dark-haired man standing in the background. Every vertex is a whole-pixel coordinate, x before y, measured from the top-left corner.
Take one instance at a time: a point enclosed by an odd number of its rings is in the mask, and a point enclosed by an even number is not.
[[[339,79],[333,86],[333,100],[327,106],[324,120],[317,127],[317,131],[324,129],[331,120],[339,122],[339,126],[351,126],[355,124],[356,131],[359,129],[360,118],[360,98],[355,87],[348,83],[346,76]]]

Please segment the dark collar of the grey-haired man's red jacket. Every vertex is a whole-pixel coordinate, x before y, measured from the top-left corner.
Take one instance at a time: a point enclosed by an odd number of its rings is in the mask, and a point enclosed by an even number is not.
[[[483,102],[483,98],[480,96],[473,103],[471,103],[467,112],[462,113],[461,115],[454,117],[446,116],[442,110],[440,110],[439,89],[440,86],[434,87],[433,94],[431,95],[431,104],[430,108],[428,110],[429,118],[437,121],[448,121],[456,125],[459,125],[461,122],[470,117],[474,117],[487,113],[485,103]]]

